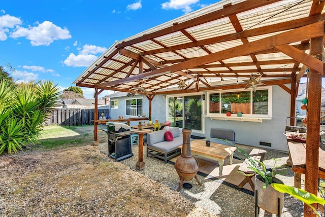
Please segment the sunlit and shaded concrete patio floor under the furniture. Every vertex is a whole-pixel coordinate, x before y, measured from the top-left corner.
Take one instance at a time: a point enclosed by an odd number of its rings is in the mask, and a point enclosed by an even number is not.
[[[240,144],[238,144],[238,146],[247,153],[249,153],[251,149],[256,148],[242,146]],[[107,142],[101,143],[97,147],[105,155],[108,154]],[[179,185],[179,176],[174,169],[173,162],[169,161],[165,164],[165,162],[162,160],[155,159],[153,157],[147,157],[146,147],[144,146],[143,148],[144,162],[146,163],[145,169],[136,169],[136,162],[138,161],[138,145],[134,145],[132,147],[134,156],[124,159],[120,161],[120,163],[127,165],[134,171],[145,174],[154,182],[161,183],[174,190],[176,193]],[[286,160],[289,157],[287,153],[276,152],[268,149],[265,150],[267,150],[267,155],[264,160],[265,164],[272,164],[273,158],[278,159],[277,164],[279,165],[286,164]],[[229,162],[225,161],[224,171],[226,171],[226,165],[228,164]],[[243,191],[238,189],[237,186],[226,182],[224,176],[227,176],[226,172],[222,178],[198,172],[198,177],[202,183],[202,186],[199,186],[196,179],[193,178],[192,180],[186,181],[192,185],[192,188],[182,188],[179,193],[197,206],[204,207],[210,212],[219,214],[220,216],[254,216],[254,196],[249,194],[251,191],[245,192],[245,190]],[[276,177],[282,180],[284,184],[294,186],[294,173],[291,169],[289,169],[285,174],[277,175]],[[304,176],[302,176],[302,179],[304,179]],[[289,195],[284,196],[284,208],[281,216],[303,216],[303,212],[304,208],[302,202]],[[258,216],[277,215],[260,209]]]

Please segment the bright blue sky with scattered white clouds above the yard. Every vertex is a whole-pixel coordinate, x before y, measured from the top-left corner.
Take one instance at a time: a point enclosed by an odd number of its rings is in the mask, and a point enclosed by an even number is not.
[[[0,0],[0,65],[17,82],[50,80],[65,89],[115,41],[215,2]],[[93,98],[93,89],[82,90]]]

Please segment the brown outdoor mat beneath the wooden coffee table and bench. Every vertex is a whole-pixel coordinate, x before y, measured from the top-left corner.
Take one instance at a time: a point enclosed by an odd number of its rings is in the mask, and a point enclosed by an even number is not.
[[[175,164],[179,156],[170,159],[168,163]],[[234,157],[232,165],[229,164],[229,158],[224,160],[222,177],[219,177],[218,161],[214,161],[212,159],[196,155],[195,153],[192,153],[192,156],[194,156],[199,162],[199,175],[204,176],[205,178],[213,179],[216,182],[219,182],[231,188],[235,188],[238,191],[247,193],[249,195],[254,195],[254,192],[248,183],[246,183],[242,189],[237,188],[237,186],[242,182],[242,180],[245,179],[245,176],[243,174],[237,172],[238,168],[243,162],[242,160],[239,160],[238,158]]]

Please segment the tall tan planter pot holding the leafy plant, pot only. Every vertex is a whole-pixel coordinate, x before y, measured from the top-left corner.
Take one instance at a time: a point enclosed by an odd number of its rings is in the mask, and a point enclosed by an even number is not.
[[[278,178],[273,178],[272,183],[280,183],[283,182]],[[255,200],[256,205],[268,212],[274,214],[282,213],[283,209],[283,200],[284,193],[276,191],[271,185],[268,185],[266,189],[263,188],[265,183],[262,181],[261,175],[255,175]],[[278,201],[280,199],[280,212],[278,211]]]

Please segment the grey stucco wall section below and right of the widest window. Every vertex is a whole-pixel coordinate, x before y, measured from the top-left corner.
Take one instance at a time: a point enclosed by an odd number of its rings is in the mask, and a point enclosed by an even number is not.
[[[207,103],[207,102],[205,102]],[[210,136],[211,127],[234,129],[236,143],[259,148],[288,152],[285,132],[286,118],[290,116],[290,94],[279,86],[272,86],[272,120],[260,122],[211,120],[205,117],[205,137]],[[271,143],[271,147],[259,142]]]

